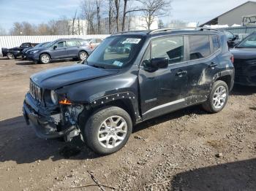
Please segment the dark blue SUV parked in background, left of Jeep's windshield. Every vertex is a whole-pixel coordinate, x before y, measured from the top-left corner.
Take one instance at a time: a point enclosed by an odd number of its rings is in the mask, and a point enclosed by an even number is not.
[[[84,39],[58,39],[45,47],[37,47],[26,52],[26,58],[35,63],[78,58],[84,60],[93,48]]]

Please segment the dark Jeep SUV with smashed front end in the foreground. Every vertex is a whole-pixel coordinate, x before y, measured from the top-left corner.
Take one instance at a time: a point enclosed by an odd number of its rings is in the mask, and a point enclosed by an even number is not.
[[[31,76],[23,114],[41,138],[80,136],[108,155],[124,147],[139,122],[197,104],[221,111],[233,88],[232,61],[219,31],[115,34],[83,64]]]

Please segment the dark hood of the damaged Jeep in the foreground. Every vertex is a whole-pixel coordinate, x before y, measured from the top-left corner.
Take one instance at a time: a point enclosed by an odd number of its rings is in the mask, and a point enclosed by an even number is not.
[[[98,69],[88,65],[75,64],[41,71],[32,75],[31,79],[39,85],[39,87],[48,90],[56,90],[59,87],[98,77],[106,77],[111,74],[116,74],[117,72],[118,70]]]

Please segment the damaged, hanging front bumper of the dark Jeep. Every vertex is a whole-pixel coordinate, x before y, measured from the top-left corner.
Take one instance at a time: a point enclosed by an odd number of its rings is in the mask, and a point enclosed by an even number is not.
[[[40,111],[41,108],[29,93],[23,103],[23,116],[27,125],[32,125],[37,136],[42,139],[55,139],[64,137],[71,141],[72,137],[80,134],[80,129],[71,122],[61,122],[61,113],[50,114]]]

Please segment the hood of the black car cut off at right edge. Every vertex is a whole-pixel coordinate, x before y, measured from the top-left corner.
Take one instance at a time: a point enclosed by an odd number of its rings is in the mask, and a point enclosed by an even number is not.
[[[255,48],[233,48],[230,52],[234,55],[235,59],[256,59]]]

